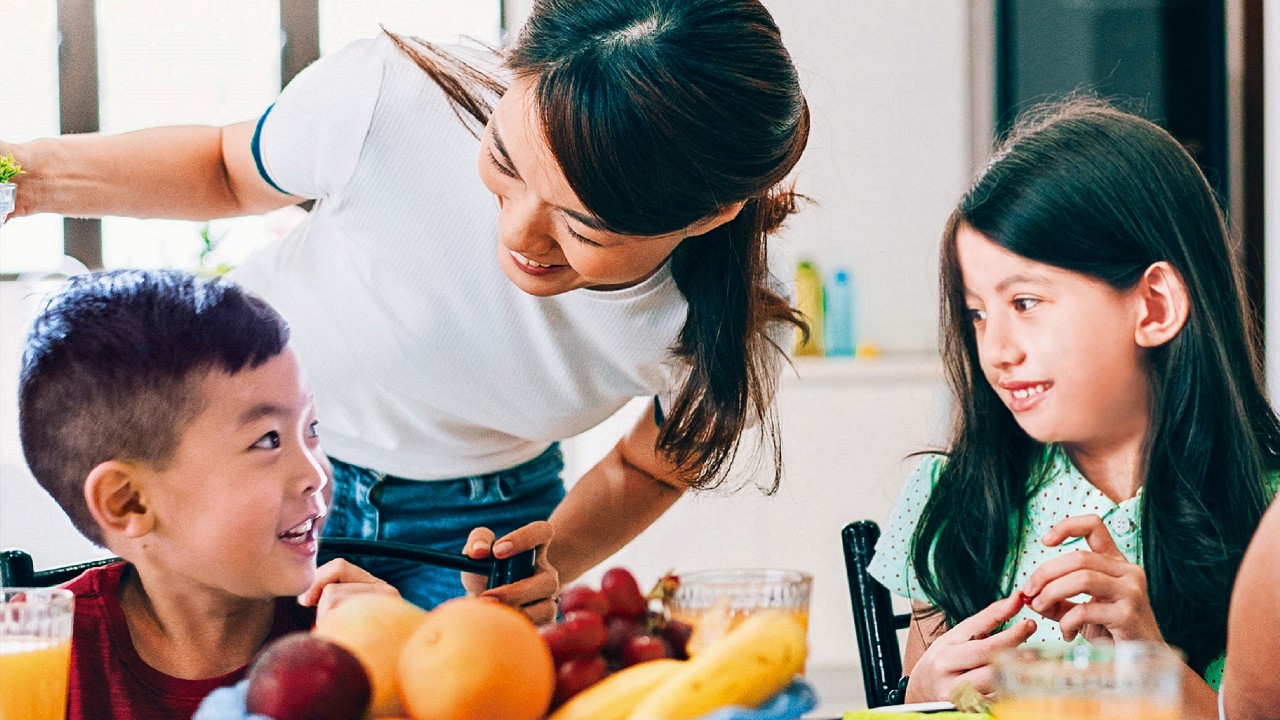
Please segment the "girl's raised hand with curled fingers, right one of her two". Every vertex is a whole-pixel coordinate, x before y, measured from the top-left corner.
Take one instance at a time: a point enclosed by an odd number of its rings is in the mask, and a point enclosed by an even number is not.
[[[1059,623],[1068,642],[1079,634],[1089,641],[1165,642],[1147,597],[1147,574],[1125,560],[1102,518],[1068,518],[1050,528],[1041,542],[1055,547],[1068,538],[1084,538],[1089,551],[1062,555],[1037,568],[1023,587],[1030,609]],[[1069,600],[1082,593],[1093,600]]]

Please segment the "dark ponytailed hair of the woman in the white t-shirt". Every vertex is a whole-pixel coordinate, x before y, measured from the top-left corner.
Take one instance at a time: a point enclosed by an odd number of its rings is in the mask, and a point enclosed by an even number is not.
[[[438,82],[458,77],[439,51],[397,42]],[[691,372],[659,447],[691,486],[713,487],[759,423],[776,489],[781,350],[769,329],[804,323],[771,287],[765,238],[795,211],[783,181],[808,141],[809,109],[773,18],[758,0],[540,0],[506,64],[535,79],[547,142],[611,231],[668,233],[745,202],[672,255],[689,302],[673,350]],[[484,122],[488,109],[463,95],[461,111]]]

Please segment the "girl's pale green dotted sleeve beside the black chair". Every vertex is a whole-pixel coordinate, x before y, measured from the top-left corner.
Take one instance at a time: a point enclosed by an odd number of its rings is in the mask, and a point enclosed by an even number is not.
[[[869,568],[872,577],[891,593],[927,605],[932,605],[932,601],[920,589],[920,580],[911,569],[911,536],[915,534],[942,464],[942,456],[927,455],[906,478],[906,486],[888,516],[888,525],[876,542],[876,555]]]

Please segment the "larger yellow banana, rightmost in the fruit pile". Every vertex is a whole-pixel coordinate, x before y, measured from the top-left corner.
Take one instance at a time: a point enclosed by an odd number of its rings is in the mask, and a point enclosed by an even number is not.
[[[806,647],[794,614],[751,615],[672,673],[628,720],[691,720],[726,705],[755,707],[804,670]]]

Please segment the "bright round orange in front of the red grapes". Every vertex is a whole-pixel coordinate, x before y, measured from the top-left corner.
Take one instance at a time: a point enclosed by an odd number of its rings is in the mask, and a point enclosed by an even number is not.
[[[529,618],[462,597],[433,610],[410,635],[399,688],[413,720],[538,720],[550,706],[556,667]]]

